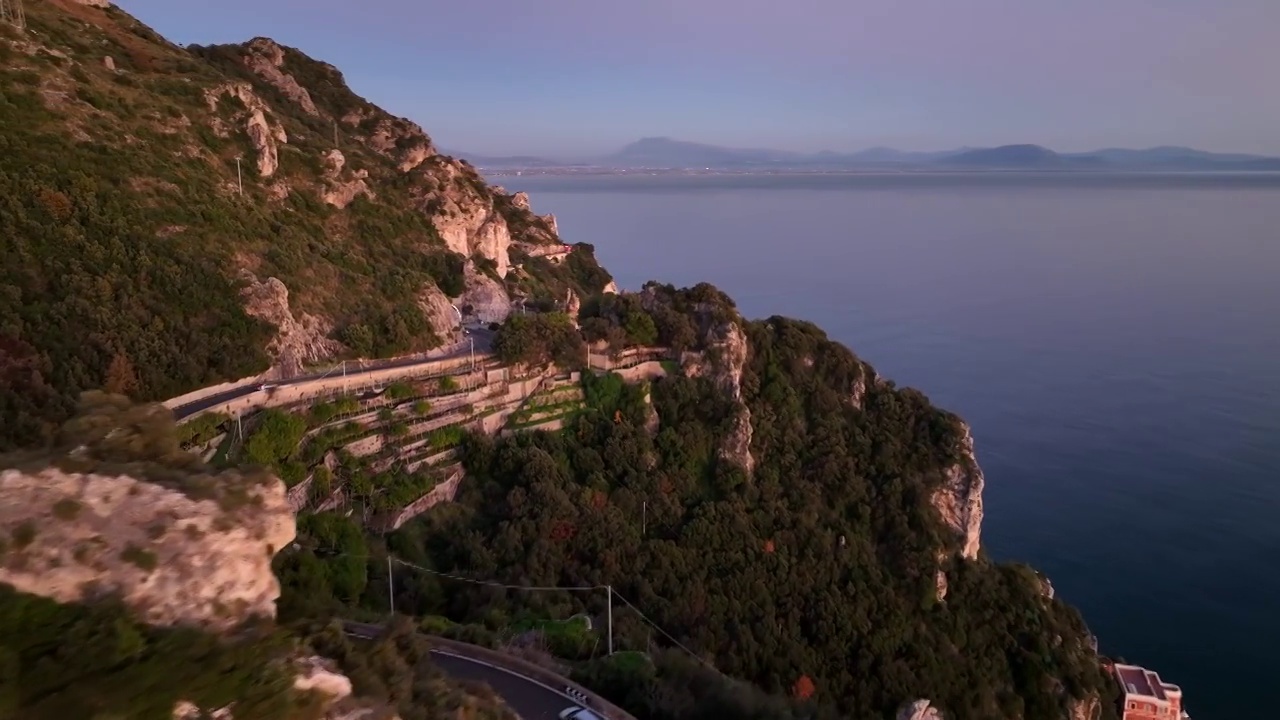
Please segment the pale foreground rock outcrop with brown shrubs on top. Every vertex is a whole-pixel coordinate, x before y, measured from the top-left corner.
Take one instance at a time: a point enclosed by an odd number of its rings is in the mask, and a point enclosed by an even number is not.
[[[212,473],[161,406],[88,393],[51,451],[0,456],[0,583],[59,602],[118,596],[156,625],[274,618],[294,537],[284,483]]]

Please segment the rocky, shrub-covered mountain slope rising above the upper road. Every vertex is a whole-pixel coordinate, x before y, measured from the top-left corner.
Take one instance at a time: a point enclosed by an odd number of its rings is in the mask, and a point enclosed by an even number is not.
[[[526,260],[553,220],[332,65],[28,5],[26,32],[0,23],[0,450],[86,388],[164,398],[425,351],[457,338],[451,302],[492,322],[608,282],[589,247]]]

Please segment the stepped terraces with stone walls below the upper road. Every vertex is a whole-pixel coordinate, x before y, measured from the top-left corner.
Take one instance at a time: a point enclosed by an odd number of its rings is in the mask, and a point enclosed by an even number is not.
[[[298,512],[357,509],[370,528],[393,530],[452,500],[468,433],[558,430],[604,406],[602,397],[622,383],[680,373],[676,356],[662,347],[602,348],[589,356],[590,369],[566,370],[486,355],[406,370],[393,382],[316,382],[234,414],[196,414],[180,425],[182,439],[214,465],[273,468]]]

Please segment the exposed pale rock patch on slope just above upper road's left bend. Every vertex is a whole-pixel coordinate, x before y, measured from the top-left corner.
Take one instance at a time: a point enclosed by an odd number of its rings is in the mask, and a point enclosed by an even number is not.
[[[278,278],[257,282],[251,273],[244,278],[250,284],[244,288],[244,311],[276,327],[275,337],[268,343],[268,352],[289,377],[302,370],[302,366],[333,357],[342,350],[342,343],[329,337],[333,329],[326,320],[306,313],[294,316],[289,310],[289,288]]]

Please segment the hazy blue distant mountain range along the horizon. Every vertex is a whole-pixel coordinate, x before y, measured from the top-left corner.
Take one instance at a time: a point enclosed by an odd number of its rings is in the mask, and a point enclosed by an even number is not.
[[[626,147],[588,160],[554,160],[535,156],[485,156],[445,152],[463,158],[480,169],[707,169],[707,170],[874,170],[874,169],[974,169],[974,170],[1172,170],[1244,172],[1277,170],[1280,158],[1207,152],[1190,147],[1161,146],[1146,150],[1107,147],[1091,152],[1055,152],[1039,145],[960,147],[936,152],[872,147],[859,152],[792,152],[741,149],[687,142],[669,137],[645,137]]]

